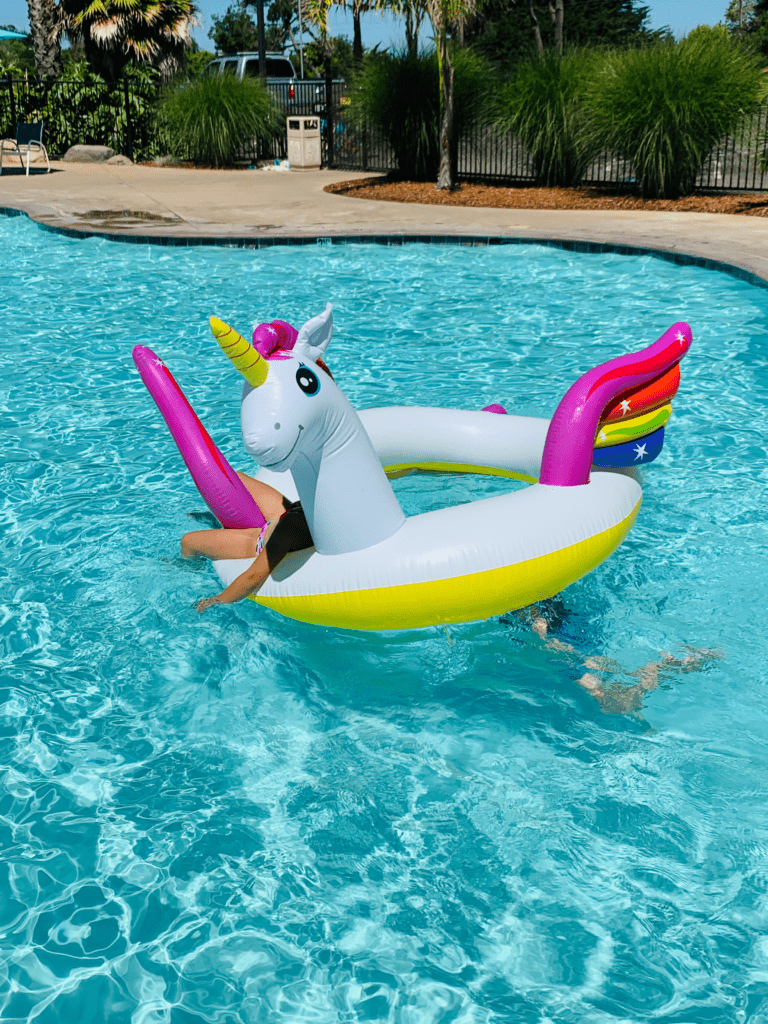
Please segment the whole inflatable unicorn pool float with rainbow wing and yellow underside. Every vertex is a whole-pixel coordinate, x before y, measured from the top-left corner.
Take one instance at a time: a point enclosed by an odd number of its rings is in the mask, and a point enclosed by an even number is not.
[[[689,327],[675,324],[650,347],[589,371],[546,420],[494,415],[501,407],[357,413],[323,362],[330,305],[298,332],[282,321],[260,325],[253,344],[216,317],[211,329],[245,378],[243,438],[257,478],[301,501],[314,541],[250,599],[357,630],[487,618],[551,597],[604,561],[637,518],[635,467],[662,450],[691,344]],[[167,367],[143,346],[133,357],[222,526],[263,524]],[[410,470],[530,485],[407,518],[387,474]],[[251,562],[214,565],[226,586]]]

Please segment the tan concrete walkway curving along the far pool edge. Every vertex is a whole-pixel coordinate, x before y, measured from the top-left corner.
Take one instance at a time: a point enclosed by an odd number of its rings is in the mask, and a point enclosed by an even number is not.
[[[742,267],[768,281],[768,218],[603,210],[487,210],[324,193],[351,171],[205,171],[53,163],[24,176],[7,158],[0,207],[94,233],[176,238],[479,234],[642,246]]]

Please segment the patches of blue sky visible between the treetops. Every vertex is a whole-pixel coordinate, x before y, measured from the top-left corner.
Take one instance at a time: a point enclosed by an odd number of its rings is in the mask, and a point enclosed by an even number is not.
[[[194,30],[195,39],[202,49],[213,49],[208,38],[211,15],[223,14],[231,0],[197,0],[201,25]],[[650,27],[660,29],[666,25],[678,37],[686,35],[697,25],[717,25],[723,20],[728,0],[644,0],[650,11]],[[352,37],[352,19],[338,7],[331,9],[331,34]],[[0,25],[13,25],[19,31],[29,30],[27,0],[0,0]],[[364,14],[362,43],[382,47],[402,45],[404,32],[401,24],[392,17]]]

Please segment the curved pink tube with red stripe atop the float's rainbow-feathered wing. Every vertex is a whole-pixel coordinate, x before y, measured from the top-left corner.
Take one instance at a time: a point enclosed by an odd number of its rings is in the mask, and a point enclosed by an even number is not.
[[[550,422],[540,482],[559,487],[588,483],[597,425],[605,407],[623,391],[666,373],[682,359],[691,341],[687,324],[673,324],[648,348],[603,362],[580,377]]]

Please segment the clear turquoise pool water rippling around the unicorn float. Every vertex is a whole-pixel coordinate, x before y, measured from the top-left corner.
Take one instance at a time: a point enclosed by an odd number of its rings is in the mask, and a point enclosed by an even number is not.
[[[0,218],[0,1019],[768,1019],[768,292],[530,246],[162,249]],[[131,348],[247,468],[207,317],[328,299],[359,407],[547,415],[692,325],[637,526],[545,609],[575,652],[514,615],[196,614],[216,581],[176,553],[203,506]],[[397,486],[413,512],[500,484]],[[627,695],[685,645],[722,656]],[[597,656],[605,708],[578,684]]]

